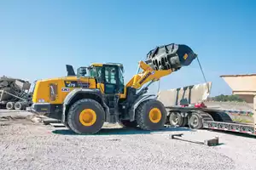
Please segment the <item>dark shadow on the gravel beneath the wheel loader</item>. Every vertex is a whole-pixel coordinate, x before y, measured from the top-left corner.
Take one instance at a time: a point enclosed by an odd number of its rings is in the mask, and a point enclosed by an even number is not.
[[[184,132],[184,131],[192,131],[189,128],[183,127],[166,127],[162,130],[157,131],[145,131],[138,128],[102,128],[98,133],[93,134],[96,135],[131,135],[131,134],[150,134],[150,133],[165,133],[165,132]],[[61,135],[92,135],[92,134],[77,134],[73,133],[73,131],[69,129],[58,129],[52,131],[55,134]]]

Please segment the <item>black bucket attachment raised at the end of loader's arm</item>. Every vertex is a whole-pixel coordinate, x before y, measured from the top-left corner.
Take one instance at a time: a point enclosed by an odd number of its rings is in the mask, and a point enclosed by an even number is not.
[[[150,50],[146,63],[155,70],[177,71],[183,66],[190,65],[196,56],[189,46],[171,43]]]

